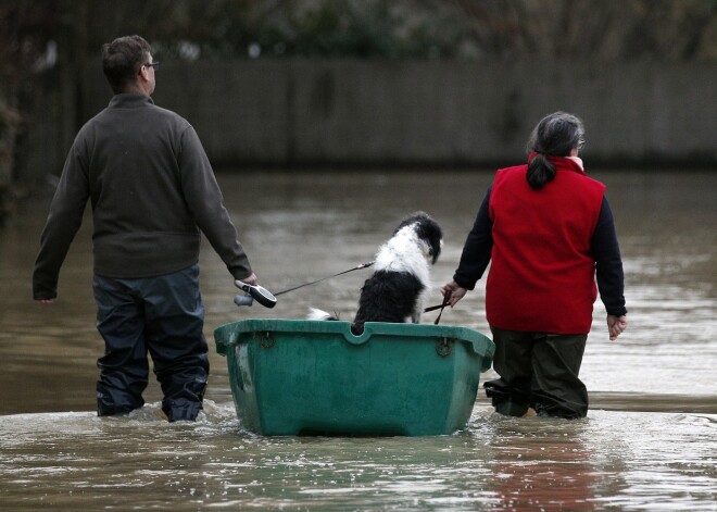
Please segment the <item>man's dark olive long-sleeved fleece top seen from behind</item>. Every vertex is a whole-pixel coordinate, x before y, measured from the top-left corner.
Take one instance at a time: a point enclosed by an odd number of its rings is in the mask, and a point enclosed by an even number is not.
[[[97,275],[138,278],[185,269],[199,259],[200,233],[235,278],[252,274],[197,133],[147,96],[114,96],[77,134],[40,237],[35,299],[56,296],[88,200]]]

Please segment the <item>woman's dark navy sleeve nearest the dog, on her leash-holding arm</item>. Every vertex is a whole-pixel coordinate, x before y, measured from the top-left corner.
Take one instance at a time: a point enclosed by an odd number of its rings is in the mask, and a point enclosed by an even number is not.
[[[483,202],[478,209],[476,222],[473,229],[468,233],[466,242],[463,246],[461,263],[453,275],[458,286],[471,290],[480,279],[490,263],[491,251],[493,249],[493,223],[490,220],[488,207],[490,204],[490,192],[492,186],[488,187]]]

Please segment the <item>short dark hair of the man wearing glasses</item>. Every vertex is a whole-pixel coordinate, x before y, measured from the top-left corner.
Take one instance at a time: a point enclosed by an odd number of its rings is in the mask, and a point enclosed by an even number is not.
[[[118,37],[102,45],[102,71],[115,95],[137,77],[151,51],[149,42],[140,36]]]

